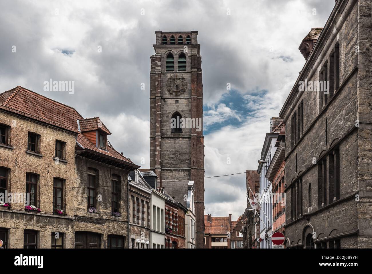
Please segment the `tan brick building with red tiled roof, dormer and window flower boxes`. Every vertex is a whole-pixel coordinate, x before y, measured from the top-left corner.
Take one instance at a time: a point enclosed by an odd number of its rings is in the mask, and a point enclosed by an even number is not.
[[[108,143],[105,125],[20,86],[0,101],[0,193],[17,195],[0,206],[4,246],[124,248],[127,177],[138,166]]]

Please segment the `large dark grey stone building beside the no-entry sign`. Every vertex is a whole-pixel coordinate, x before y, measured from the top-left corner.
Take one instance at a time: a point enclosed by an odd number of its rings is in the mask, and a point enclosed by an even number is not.
[[[371,9],[336,1],[280,111],[289,248],[372,247]]]

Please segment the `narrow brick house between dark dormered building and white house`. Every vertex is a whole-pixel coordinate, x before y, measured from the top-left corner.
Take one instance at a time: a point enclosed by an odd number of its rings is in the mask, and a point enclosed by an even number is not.
[[[140,171],[129,173],[129,248],[150,248],[152,189]]]

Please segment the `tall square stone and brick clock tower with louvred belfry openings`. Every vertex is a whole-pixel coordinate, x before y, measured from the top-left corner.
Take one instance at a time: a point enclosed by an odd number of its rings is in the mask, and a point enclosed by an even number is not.
[[[187,183],[194,181],[195,242],[196,248],[203,248],[203,84],[198,32],[155,34],[155,54],[150,57],[150,169],[166,190],[177,187],[179,193],[170,193],[174,196],[187,195]],[[189,122],[172,128],[172,118]]]

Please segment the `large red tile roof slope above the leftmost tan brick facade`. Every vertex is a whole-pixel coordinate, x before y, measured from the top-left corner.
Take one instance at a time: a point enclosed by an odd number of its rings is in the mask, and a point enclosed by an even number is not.
[[[77,120],[83,119],[71,106],[21,86],[0,93],[0,109],[74,132],[78,132]]]

